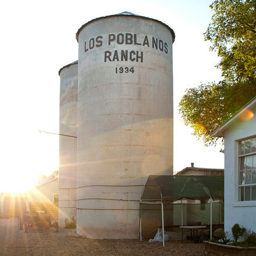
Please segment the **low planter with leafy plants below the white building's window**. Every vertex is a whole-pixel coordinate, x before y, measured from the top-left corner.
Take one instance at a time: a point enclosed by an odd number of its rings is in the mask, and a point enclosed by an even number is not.
[[[205,241],[205,255],[211,256],[255,256],[256,255],[256,233],[246,230],[239,224],[232,227],[234,240],[227,238],[227,233],[221,232],[218,237]]]

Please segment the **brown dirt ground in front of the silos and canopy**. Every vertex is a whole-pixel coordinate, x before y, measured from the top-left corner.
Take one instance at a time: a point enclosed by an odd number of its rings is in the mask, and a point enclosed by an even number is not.
[[[0,219],[0,255],[10,256],[115,256],[115,255],[168,255],[203,256],[204,244],[167,241],[149,243],[148,240],[94,240],[77,236],[73,230],[54,229],[47,232],[29,230],[24,233],[17,227],[17,219]]]

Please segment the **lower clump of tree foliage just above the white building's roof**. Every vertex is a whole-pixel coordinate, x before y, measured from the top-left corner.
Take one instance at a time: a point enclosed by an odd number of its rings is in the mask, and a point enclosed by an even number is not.
[[[179,103],[185,125],[194,129],[193,135],[205,145],[215,145],[211,133],[256,95],[256,80],[230,84],[226,81],[201,84],[186,90]]]

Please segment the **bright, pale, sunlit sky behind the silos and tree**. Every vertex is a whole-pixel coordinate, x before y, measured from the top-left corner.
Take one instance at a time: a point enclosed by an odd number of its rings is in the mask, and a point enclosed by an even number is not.
[[[184,126],[179,101],[187,88],[221,80],[216,52],[203,33],[209,0],[4,1],[0,9],[0,191],[27,188],[58,169],[61,67],[78,58],[77,30],[97,17],[128,11],[168,24],[173,43],[174,172],[190,166],[223,168],[222,146],[205,147]]]

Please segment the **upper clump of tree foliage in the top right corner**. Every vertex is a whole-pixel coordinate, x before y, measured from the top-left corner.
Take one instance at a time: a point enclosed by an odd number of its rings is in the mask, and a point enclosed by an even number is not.
[[[256,67],[256,0],[215,0],[212,22],[205,40],[218,52],[225,79],[237,82],[255,77]]]

